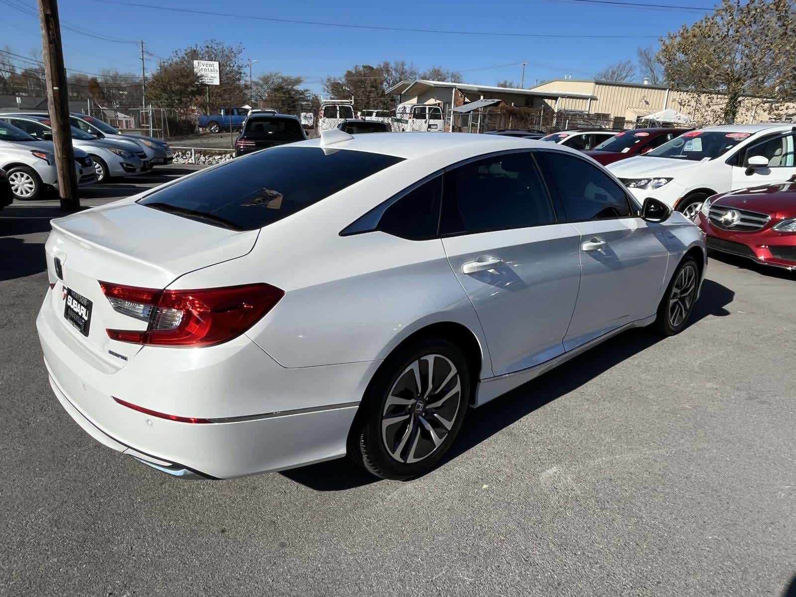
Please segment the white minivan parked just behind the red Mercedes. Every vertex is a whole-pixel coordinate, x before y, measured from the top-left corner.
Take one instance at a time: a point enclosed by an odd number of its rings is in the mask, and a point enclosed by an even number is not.
[[[715,193],[782,182],[796,174],[794,129],[790,123],[698,129],[607,168],[638,199],[655,197],[693,219]]]

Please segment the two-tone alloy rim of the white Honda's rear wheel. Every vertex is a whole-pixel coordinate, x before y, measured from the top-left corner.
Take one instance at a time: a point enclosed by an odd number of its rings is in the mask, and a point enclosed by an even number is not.
[[[412,464],[433,454],[447,438],[459,408],[462,380],[441,354],[413,361],[392,384],[381,413],[381,438],[396,461]]]

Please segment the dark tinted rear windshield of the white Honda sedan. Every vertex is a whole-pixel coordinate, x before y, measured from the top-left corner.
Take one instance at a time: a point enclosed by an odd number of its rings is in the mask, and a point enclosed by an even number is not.
[[[139,204],[234,230],[255,230],[404,158],[322,147],[275,147],[185,178]]]

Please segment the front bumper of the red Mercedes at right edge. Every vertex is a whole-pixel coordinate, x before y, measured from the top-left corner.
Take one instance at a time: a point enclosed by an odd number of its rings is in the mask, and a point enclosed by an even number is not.
[[[708,249],[753,259],[764,265],[796,269],[796,234],[773,232],[729,232],[713,226],[701,213],[696,224],[708,235]]]

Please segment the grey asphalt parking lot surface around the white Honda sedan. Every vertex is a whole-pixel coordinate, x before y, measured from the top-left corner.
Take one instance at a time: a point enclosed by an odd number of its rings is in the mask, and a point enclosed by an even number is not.
[[[335,461],[181,482],[52,395],[34,319],[57,215],[0,212],[0,595],[785,595],[796,579],[796,275],[711,259],[685,332],[622,334],[470,412],[416,481]]]

